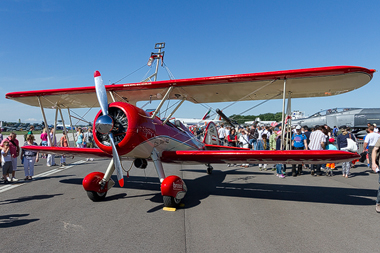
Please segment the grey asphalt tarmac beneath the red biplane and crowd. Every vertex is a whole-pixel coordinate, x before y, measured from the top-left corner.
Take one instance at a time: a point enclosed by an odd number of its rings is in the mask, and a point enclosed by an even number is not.
[[[43,163],[42,163],[43,162]],[[153,164],[133,168],[103,202],[81,182],[106,159],[67,159],[35,167],[35,180],[0,183],[0,252],[375,252],[378,175],[364,165],[351,177],[278,178],[258,167],[164,164],[184,179],[184,207],[163,210]],[[76,162],[75,164],[72,164]],[[56,163],[59,159],[56,158]],[[130,162],[123,162],[129,169]],[[23,178],[19,165],[16,176]],[[289,173],[289,169],[288,169]],[[115,176],[113,179],[116,181]]]

